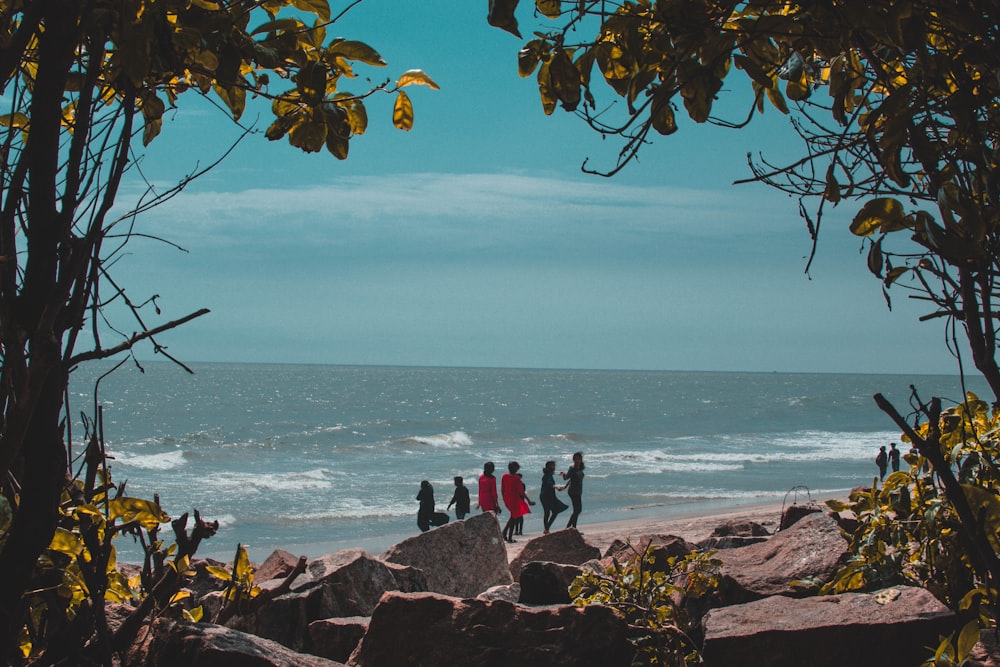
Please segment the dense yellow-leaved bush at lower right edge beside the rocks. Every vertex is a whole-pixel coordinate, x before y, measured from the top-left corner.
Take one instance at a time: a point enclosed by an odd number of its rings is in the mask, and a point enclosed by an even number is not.
[[[918,423],[902,435],[914,446],[903,457],[909,469],[892,473],[881,487],[875,480],[855,490],[847,503],[827,503],[853,513],[858,527],[849,562],[822,592],[927,589],[966,620],[957,640],[941,638],[928,664],[959,665],[980,627],[995,627],[1000,605],[1000,409],[969,392],[932,420],[915,392],[914,403]],[[953,484],[961,495],[949,496]],[[963,513],[974,520],[963,521]]]

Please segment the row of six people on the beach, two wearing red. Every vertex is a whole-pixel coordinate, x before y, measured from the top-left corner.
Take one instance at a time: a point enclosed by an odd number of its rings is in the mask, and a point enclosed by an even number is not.
[[[499,492],[497,490],[497,480],[494,476],[496,466],[492,461],[487,461],[483,465],[483,474],[479,476],[479,496],[476,507],[483,512],[493,512],[500,515],[503,510],[500,501],[503,500],[507,508],[509,518],[503,528],[503,538],[507,542],[514,542],[515,535],[522,535],[524,532],[524,516],[531,512],[531,506],[535,501],[531,500],[527,494],[527,487],[519,472],[521,464],[511,461],[507,464],[507,472],[500,479]],[[560,473],[564,480],[562,486],[556,486],[555,472],[556,462],[546,461],[542,468],[542,486],[538,493],[538,500],[542,503],[542,527],[545,534],[549,533],[552,524],[555,523],[556,516],[569,509],[566,503],[562,502],[556,495],[556,491],[565,490],[573,505],[573,512],[570,514],[567,528],[576,528],[576,521],[583,511],[583,453],[573,454],[573,464]],[[417,494],[417,501],[420,502],[420,509],[417,512],[417,526],[421,531],[427,531],[432,525],[440,525],[448,520],[448,515],[443,512],[434,511],[434,489],[430,482],[424,480],[420,483],[420,492]],[[455,516],[459,520],[464,519],[471,511],[469,489],[465,486],[461,477],[455,477],[455,493],[447,509],[455,506]],[[441,516],[439,516],[441,515]]]

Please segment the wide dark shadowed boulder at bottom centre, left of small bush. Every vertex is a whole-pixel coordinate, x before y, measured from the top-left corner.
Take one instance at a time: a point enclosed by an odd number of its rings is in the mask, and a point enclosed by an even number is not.
[[[625,622],[610,607],[386,593],[347,664],[626,667],[632,655]]]

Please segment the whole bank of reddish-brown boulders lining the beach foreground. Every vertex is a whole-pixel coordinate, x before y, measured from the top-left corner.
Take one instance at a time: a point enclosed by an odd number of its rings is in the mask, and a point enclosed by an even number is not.
[[[475,515],[378,555],[348,549],[309,561],[276,551],[256,568],[269,602],[228,618],[221,582],[205,571],[222,564],[197,563],[186,603],[222,620],[158,618],[124,664],[625,667],[635,628],[609,607],[570,604],[567,588],[627,558],[627,544],[647,543],[656,563],[705,550],[721,562],[718,591],[677,601],[709,667],[918,665],[955,630],[955,616],[923,589],[817,596],[846,558],[844,517],[818,501],[782,509],[582,525],[514,544],[493,516]],[[972,664],[996,664],[989,647],[977,651]]]

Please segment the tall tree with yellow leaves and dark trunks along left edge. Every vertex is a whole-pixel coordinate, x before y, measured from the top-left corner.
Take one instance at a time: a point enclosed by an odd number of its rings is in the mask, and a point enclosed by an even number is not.
[[[106,475],[81,480],[72,471],[72,369],[143,341],[180,364],[161,334],[208,312],[154,325],[147,318],[161,315],[158,297],[133,298],[113,273],[142,235],[138,216],[213,165],[172,188],[146,183],[123,214],[119,189],[130,174],[143,178],[143,147],[168,113],[181,112],[185,93],[237,124],[250,105],[266,104],[264,136],[340,159],[367,129],[373,94],[394,95],[393,123],[410,129],[403,89],[437,86],[409,70],[395,84],[350,90],[355,68],[386,64],[371,46],[327,34],[357,4],[336,13],[328,0],[0,0],[0,662],[22,660],[24,633],[36,656],[46,647],[80,651],[73,642],[94,631],[105,651],[96,659],[110,664],[108,651],[127,634],[108,640],[98,604],[111,538],[133,528],[150,536],[148,614],[170,603],[185,559],[212,532],[196,513],[189,534],[178,524],[185,515],[172,522],[178,541],[168,553],[152,537],[154,519],[164,518],[157,502],[128,499]],[[88,445],[84,469],[97,470],[101,456]],[[35,586],[38,576],[44,585]],[[131,595],[120,581],[109,586],[112,596]]]

